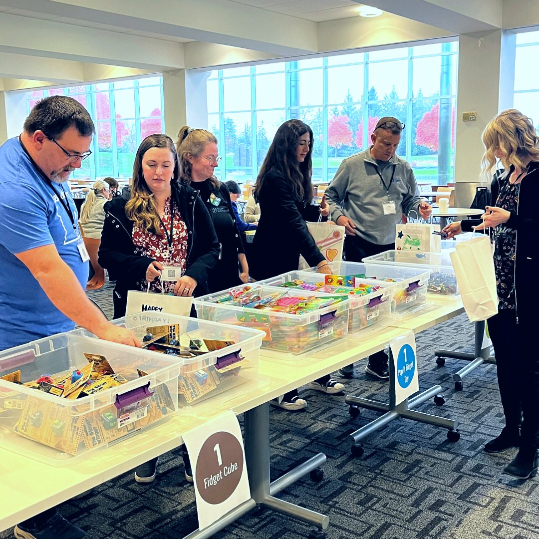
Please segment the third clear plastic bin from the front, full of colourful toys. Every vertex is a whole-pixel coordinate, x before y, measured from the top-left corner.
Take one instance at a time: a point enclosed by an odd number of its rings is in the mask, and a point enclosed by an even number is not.
[[[297,295],[297,290],[283,291],[282,288],[251,285],[257,289],[262,299],[273,294]],[[260,310],[242,306],[227,305],[218,300],[229,297],[232,287],[223,292],[195,298],[194,305],[199,318],[240,325],[265,331],[262,339],[262,353],[277,351],[291,355],[305,354],[314,349],[333,344],[348,333],[350,300],[344,300],[307,314],[289,314]],[[323,297],[327,294],[301,291],[301,296]]]

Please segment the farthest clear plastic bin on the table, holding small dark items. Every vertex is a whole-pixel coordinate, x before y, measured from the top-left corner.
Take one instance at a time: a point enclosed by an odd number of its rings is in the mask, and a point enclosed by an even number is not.
[[[431,272],[427,292],[429,294],[456,296],[459,294],[455,271],[451,264],[451,250],[444,249],[440,253],[421,253],[385,251],[363,259],[369,273],[376,272],[380,265],[393,267],[425,269]]]

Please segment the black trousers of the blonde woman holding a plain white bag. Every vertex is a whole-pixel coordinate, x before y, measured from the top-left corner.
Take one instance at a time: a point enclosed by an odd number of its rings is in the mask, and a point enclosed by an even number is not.
[[[506,426],[521,423],[521,447],[538,447],[539,355],[534,350],[534,330],[528,320],[516,323],[515,309],[500,309],[488,319],[500,399]]]

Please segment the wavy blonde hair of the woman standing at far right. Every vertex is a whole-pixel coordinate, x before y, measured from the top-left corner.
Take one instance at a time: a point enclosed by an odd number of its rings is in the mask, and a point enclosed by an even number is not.
[[[496,151],[503,168],[525,169],[529,161],[539,161],[539,137],[533,122],[519,110],[509,108],[490,120],[481,135],[485,153],[481,160],[483,172],[490,176],[496,164]]]

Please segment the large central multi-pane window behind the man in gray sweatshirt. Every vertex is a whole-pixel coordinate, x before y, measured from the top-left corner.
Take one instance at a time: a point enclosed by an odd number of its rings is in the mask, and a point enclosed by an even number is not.
[[[208,128],[225,157],[222,179],[252,182],[275,131],[299,118],[313,129],[313,181],[330,181],[344,157],[366,149],[376,122],[406,124],[397,153],[418,182],[454,177],[456,42],[213,71]]]

